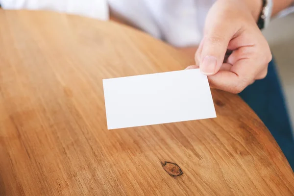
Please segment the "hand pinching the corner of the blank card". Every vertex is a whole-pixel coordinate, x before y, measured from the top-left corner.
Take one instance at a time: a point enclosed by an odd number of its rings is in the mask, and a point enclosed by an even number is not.
[[[212,88],[240,93],[267,75],[270,47],[252,13],[245,0],[217,0],[211,7],[195,60]],[[224,61],[227,50],[232,54]]]

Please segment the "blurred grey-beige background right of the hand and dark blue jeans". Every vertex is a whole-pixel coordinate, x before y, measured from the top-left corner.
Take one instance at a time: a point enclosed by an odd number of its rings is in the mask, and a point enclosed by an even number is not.
[[[273,19],[263,34],[277,63],[294,128],[294,14]]]

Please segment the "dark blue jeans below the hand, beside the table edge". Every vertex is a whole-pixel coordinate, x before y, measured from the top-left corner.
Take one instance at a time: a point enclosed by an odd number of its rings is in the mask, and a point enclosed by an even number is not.
[[[239,95],[268,127],[294,170],[294,137],[275,62],[270,62],[265,79],[255,81]]]

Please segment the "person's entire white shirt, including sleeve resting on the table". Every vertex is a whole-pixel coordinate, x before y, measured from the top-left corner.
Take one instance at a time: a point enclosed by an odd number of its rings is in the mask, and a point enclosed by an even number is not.
[[[100,20],[109,8],[132,25],[177,47],[198,45],[215,0],[0,0],[3,9],[46,9]],[[284,12],[285,13],[285,12]]]

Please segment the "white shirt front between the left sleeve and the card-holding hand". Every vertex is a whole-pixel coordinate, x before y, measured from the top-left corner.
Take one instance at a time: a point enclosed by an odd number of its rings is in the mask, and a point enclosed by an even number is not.
[[[197,45],[215,0],[108,0],[113,12],[168,43]]]

